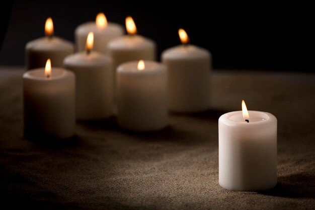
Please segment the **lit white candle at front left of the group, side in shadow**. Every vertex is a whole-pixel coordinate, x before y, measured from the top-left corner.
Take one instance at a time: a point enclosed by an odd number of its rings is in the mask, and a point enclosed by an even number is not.
[[[25,136],[69,138],[75,128],[75,76],[46,67],[23,75]]]

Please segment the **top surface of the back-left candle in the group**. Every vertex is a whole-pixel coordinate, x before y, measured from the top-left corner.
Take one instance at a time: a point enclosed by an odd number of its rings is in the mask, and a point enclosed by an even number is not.
[[[53,37],[41,37],[32,40],[26,44],[26,49],[32,49],[37,51],[46,50],[68,50],[74,49],[73,43],[65,39],[53,36]]]

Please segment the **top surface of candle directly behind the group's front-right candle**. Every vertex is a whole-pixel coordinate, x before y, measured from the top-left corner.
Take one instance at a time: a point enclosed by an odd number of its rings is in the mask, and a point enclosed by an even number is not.
[[[125,35],[109,41],[110,49],[154,48],[155,42],[140,35]]]

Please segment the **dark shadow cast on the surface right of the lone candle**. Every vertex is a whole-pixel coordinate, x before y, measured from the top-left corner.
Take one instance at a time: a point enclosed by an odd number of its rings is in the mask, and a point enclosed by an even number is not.
[[[315,198],[314,180],[315,175],[306,173],[278,177],[278,184],[273,189],[259,193],[277,197]]]

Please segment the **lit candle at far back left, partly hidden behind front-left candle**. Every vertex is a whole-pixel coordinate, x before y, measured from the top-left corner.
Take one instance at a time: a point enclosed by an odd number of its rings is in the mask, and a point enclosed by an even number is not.
[[[63,59],[73,53],[73,44],[69,41],[53,36],[53,23],[51,18],[46,20],[45,37],[38,38],[26,44],[27,69],[45,66],[46,60],[52,60],[52,66],[62,67]]]

